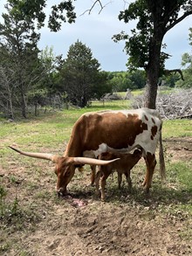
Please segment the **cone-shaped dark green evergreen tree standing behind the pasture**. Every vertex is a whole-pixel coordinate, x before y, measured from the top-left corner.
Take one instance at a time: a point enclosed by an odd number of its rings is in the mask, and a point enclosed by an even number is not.
[[[85,107],[98,85],[99,62],[79,40],[70,46],[61,70],[62,84],[74,105]]]

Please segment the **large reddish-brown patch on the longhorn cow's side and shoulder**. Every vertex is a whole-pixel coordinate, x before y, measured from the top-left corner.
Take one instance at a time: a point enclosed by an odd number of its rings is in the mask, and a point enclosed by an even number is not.
[[[147,124],[138,118],[138,114],[82,115],[72,129],[65,156],[83,156],[84,151],[96,150],[101,143],[113,149],[127,148],[143,130],[147,130]]]

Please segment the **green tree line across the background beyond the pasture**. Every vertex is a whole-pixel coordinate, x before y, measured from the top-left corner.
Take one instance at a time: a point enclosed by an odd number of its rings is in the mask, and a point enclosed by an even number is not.
[[[93,58],[89,47],[79,40],[70,46],[67,57],[55,56],[52,48],[39,51],[34,20],[17,11],[14,1],[6,4],[0,24],[0,114],[14,119],[17,113],[27,117],[31,107],[62,107],[69,102],[86,107],[89,100],[105,93],[126,92],[146,85],[146,73],[136,69],[127,72],[105,72]],[[190,42],[191,40],[190,34]],[[190,43],[192,45],[192,43]],[[186,80],[178,75],[161,77],[159,85],[191,86],[192,58],[182,57]],[[178,82],[177,82],[178,81]]]

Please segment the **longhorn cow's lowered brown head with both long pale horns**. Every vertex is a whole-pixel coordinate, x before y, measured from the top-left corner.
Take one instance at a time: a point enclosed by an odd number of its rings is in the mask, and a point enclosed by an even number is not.
[[[51,162],[55,163],[54,171],[55,171],[55,174],[58,176],[57,185],[56,185],[58,196],[63,196],[66,194],[66,186],[68,183],[70,183],[72,176],[75,173],[75,169],[79,167],[79,165],[83,165],[83,164],[106,165],[116,160],[119,160],[119,158],[116,158],[110,161],[104,161],[104,160],[98,160],[98,159],[93,159],[88,157],[55,156],[47,153],[24,152],[19,149],[15,149],[13,147],[10,147],[10,149],[17,151],[19,154],[24,156],[50,160]]]

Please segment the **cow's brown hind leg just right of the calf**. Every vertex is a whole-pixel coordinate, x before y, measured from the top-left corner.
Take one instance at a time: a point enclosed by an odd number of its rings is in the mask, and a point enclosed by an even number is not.
[[[156,165],[156,159],[154,154],[151,154],[148,152],[147,152],[147,156],[145,156],[144,159],[147,166],[147,172],[146,172],[144,182],[142,184],[145,187],[145,190],[149,192],[149,188],[151,187],[151,183],[152,183],[152,177],[154,174],[154,168]]]

